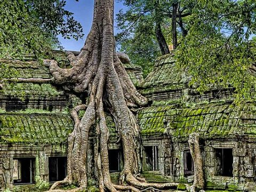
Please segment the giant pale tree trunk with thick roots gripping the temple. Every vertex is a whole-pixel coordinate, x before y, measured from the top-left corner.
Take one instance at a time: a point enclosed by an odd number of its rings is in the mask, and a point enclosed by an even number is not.
[[[115,51],[114,39],[114,0],[95,0],[92,28],[85,45],[79,55],[68,56],[71,69],[62,69],[54,60],[50,63],[50,71],[55,84],[65,90],[84,97],[86,103],[71,111],[75,121],[74,131],[68,138],[67,177],[55,182],[51,191],[63,184],[74,184],[77,190],[87,187],[87,143],[89,132],[95,131],[94,162],[96,177],[100,191],[131,190],[140,191],[148,187],[168,188],[178,183],[146,183],[137,179],[140,173],[140,134],[137,122],[129,106],[146,105],[147,99],[135,89],[129,75]],[[84,116],[78,118],[79,110],[85,110]],[[108,127],[106,114],[108,111],[117,122],[119,137],[122,140],[124,168],[121,183],[130,186],[114,185],[110,180],[108,162]],[[58,190],[61,191],[61,190]]]

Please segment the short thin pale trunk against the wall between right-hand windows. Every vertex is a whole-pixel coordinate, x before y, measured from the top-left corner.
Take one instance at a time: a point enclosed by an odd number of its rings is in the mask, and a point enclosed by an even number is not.
[[[204,172],[203,172],[203,160],[201,151],[199,148],[199,134],[192,133],[189,135],[189,147],[190,153],[194,160],[194,183],[192,188],[203,189],[204,188]],[[194,191],[195,189],[191,190]]]

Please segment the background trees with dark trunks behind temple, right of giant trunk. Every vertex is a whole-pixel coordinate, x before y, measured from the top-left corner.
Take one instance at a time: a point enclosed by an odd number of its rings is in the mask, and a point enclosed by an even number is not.
[[[146,76],[154,59],[170,53],[168,45],[174,44],[173,41],[177,44],[178,37],[187,35],[184,20],[192,5],[166,0],[123,0],[123,3],[127,10],[117,14],[118,29],[121,30],[117,42],[122,51],[132,55],[134,63],[142,66]],[[175,18],[172,17],[173,10]],[[172,27],[173,20],[177,21],[176,30]]]

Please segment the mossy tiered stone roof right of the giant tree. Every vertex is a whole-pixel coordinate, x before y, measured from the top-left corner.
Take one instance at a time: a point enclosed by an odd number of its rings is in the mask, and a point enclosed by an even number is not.
[[[151,106],[138,113],[141,133],[188,139],[197,132],[204,139],[256,138],[256,102],[234,103],[234,89],[213,87],[203,94],[189,86],[187,71],[175,66],[172,54],[156,60],[140,85]]]

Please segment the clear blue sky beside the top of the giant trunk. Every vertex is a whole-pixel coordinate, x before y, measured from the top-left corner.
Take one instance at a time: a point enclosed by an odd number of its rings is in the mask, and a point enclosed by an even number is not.
[[[74,18],[79,21],[83,26],[85,36],[83,37],[83,39],[79,39],[78,41],[74,39],[64,39],[59,36],[61,45],[64,47],[65,50],[80,51],[82,46],[84,45],[85,38],[89,33],[92,25],[93,3],[93,0],[79,0],[78,2],[76,2],[75,0],[67,0],[67,5],[65,6],[65,8],[68,11],[74,13]],[[123,8],[123,3],[115,0],[115,14]]]

